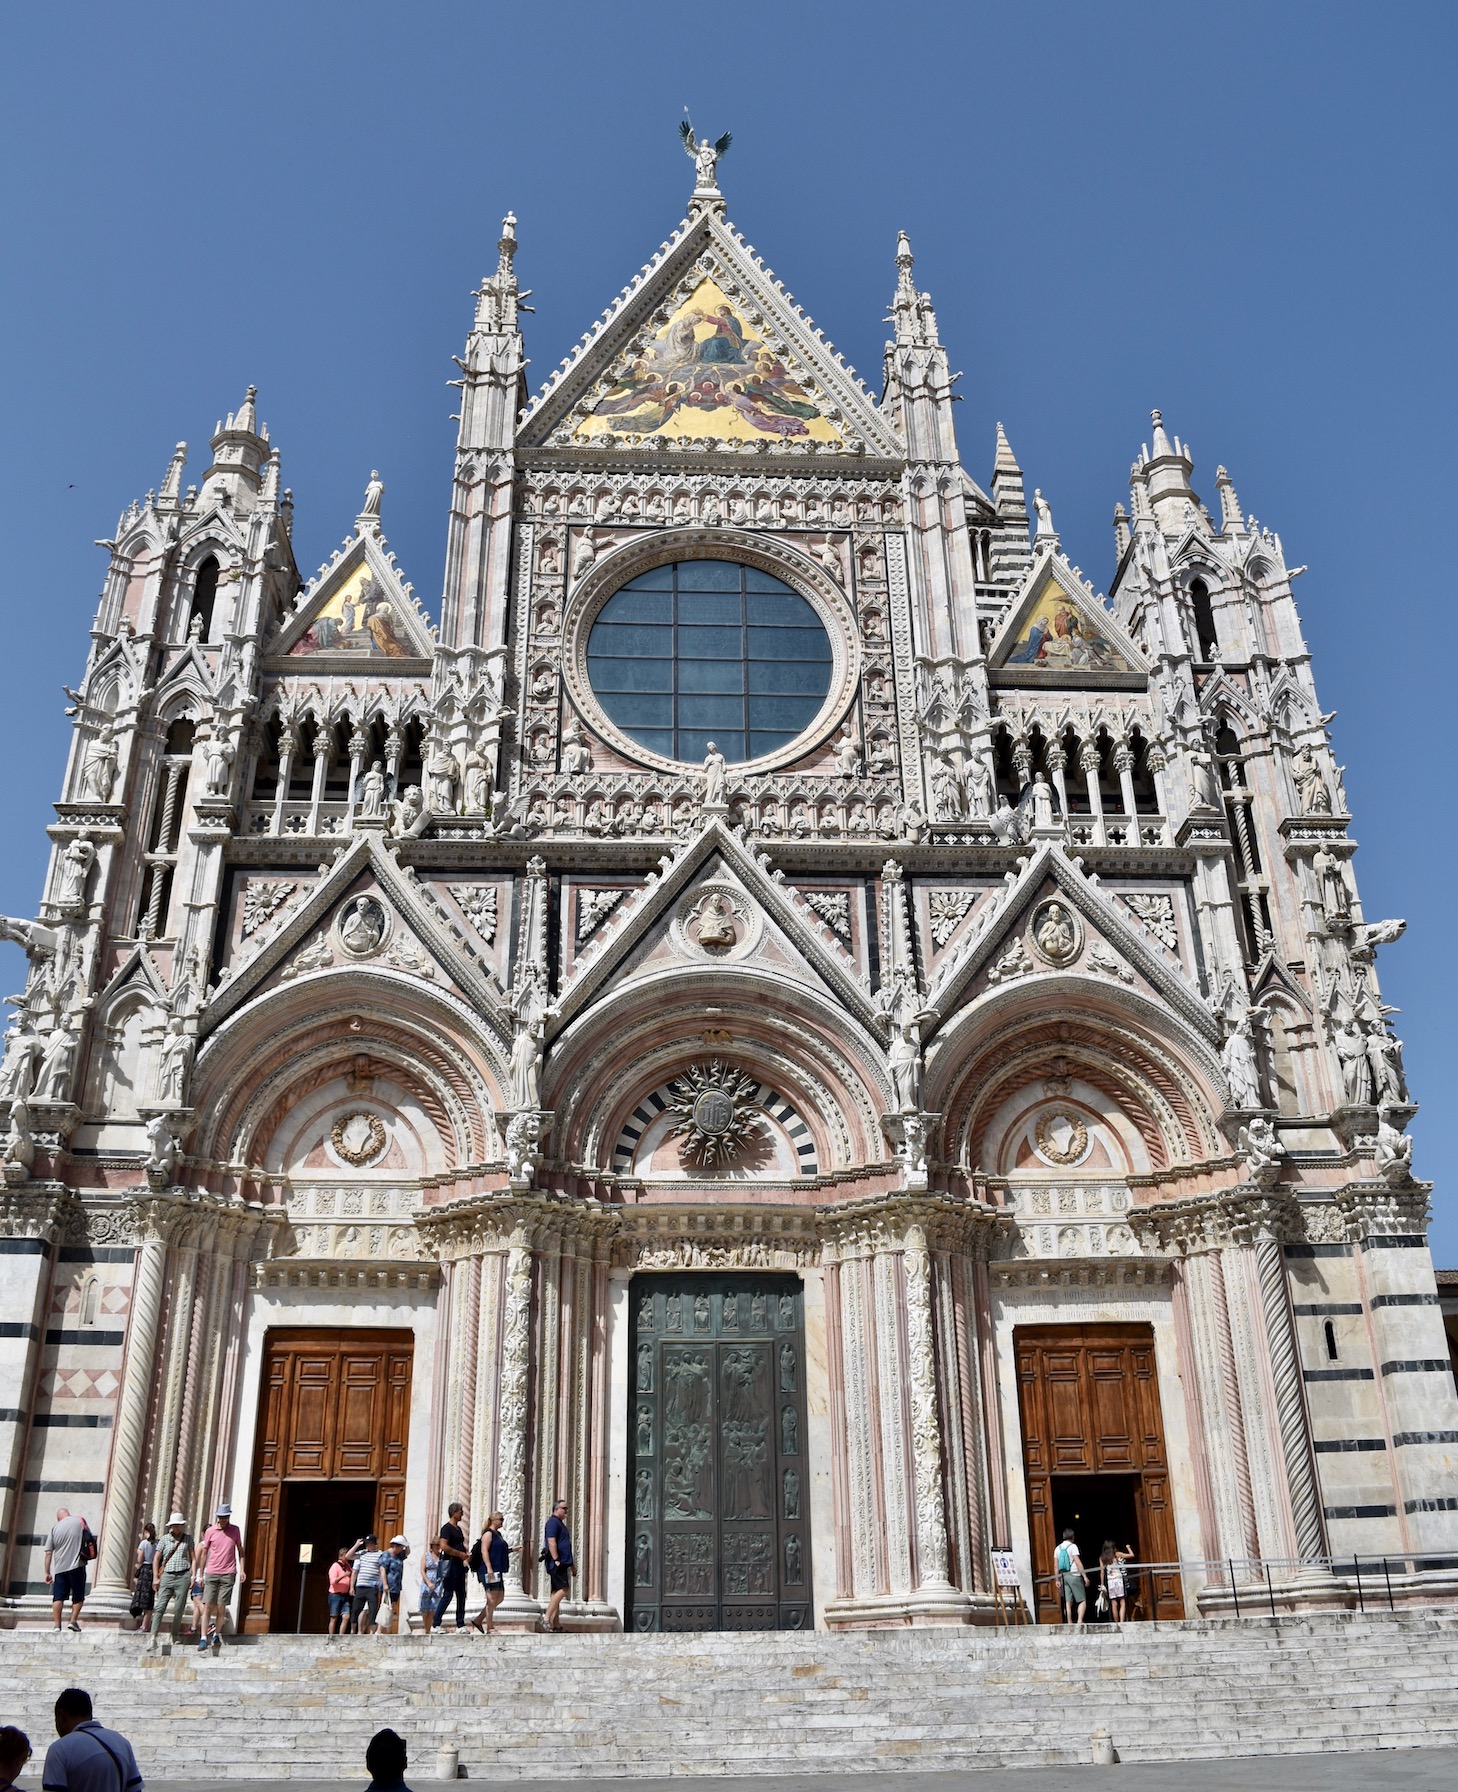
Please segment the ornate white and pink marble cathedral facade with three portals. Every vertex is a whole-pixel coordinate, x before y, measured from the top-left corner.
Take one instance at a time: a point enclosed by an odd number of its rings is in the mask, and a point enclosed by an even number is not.
[[[107,543],[4,921],[21,1611],[57,1505],[120,1615],[222,1500],[254,1631],[457,1498],[518,1624],[555,1496],[580,1627],[985,1622],[1008,1554],[1053,1616],[1064,1525],[1145,1615],[1447,1586],[1402,923],[1295,568],[1155,412],[1098,597],[1001,425],[964,471],[905,237],[878,398],[718,149],[536,394],[507,219],[439,625],[378,475],[301,577],[253,391]]]

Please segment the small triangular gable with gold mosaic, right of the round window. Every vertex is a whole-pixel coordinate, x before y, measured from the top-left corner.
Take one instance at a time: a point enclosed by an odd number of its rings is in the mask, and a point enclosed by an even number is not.
[[[987,659],[1001,685],[1137,690],[1148,677],[1121,624],[1051,548],[1033,561]]]

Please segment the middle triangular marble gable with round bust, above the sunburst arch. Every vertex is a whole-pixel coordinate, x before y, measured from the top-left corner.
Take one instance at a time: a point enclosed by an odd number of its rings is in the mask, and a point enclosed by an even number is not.
[[[716,907],[706,907],[722,898]],[[709,939],[718,921],[724,950]],[[733,939],[729,937],[733,935]],[[699,950],[709,939],[709,950]],[[845,946],[720,821],[711,821],[661,873],[630,892],[602,932],[587,941],[571,980],[553,1009],[550,1030],[561,1032],[607,986],[647,975],[659,961],[684,957],[711,968],[772,968],[824,991],[867,1025],[874,1025],[871,989]]]

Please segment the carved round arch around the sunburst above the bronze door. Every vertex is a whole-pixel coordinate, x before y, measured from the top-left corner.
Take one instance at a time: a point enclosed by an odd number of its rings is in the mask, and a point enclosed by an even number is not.
[[[704,1034],[727,1034],[729,1043]],[[790,1174],[835,1174],[885,1159],[890,1107],[879,1043],[829,995],[761,966],[684,975],[666,968],[620,984],[555,1041],[546,1104],[553,1156],[611,1172],[634,1113],[691,1063],[720,1057],[768,1090]],[[813,1165],[806,1145],[813,1147]]]

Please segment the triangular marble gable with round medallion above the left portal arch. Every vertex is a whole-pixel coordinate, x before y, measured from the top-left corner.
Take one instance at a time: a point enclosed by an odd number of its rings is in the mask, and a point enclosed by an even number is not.
[[[505,998],[482,943],[367,833],[290,907],[276,934],[226,968],[202,1011],[202,1032],[265,989],[335,971],[383,971],[455,991],[487,1021],[503,1023]]]

